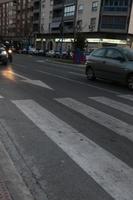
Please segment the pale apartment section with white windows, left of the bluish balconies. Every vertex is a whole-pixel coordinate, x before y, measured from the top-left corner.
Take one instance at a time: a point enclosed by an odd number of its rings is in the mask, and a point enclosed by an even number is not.
[[[42,0],[41,34],[38,34],[37,41],[46,40],[47,49],[58,49],[63,37],[64,48],[67,48],[75,33],[98,31],[100,9],[101,0]]]

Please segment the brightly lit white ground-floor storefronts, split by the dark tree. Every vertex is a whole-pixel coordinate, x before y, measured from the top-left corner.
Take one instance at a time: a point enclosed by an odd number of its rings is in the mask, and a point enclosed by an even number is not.
[[[73,38],[37,38],[35,41],[36,49],[43,50],[67,50],[72,49],[74,39]],[[130,40],[119,40],[119,39],[106,39],[106,38],[87,38],[85,43],[85,49],[99,48],[103,46],[121,46],[121,47],[132,47]]]

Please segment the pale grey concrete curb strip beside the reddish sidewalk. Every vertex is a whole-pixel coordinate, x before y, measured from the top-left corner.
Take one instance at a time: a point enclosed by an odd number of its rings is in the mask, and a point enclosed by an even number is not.
[[[12,192],[19,200],[33,200],[33,197],[25,185],[22,177],[15,168],[12,160],[10,159],[4,145],[0,141],[0,165],[6,177],[6,182]],[[12,197],[14,195],[12,194]],[[15,199],[15,198],[13,198]]]

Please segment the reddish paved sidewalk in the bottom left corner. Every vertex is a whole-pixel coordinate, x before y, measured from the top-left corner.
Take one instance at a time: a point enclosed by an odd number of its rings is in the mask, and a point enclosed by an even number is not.
[[[1,167],[0,167],[0,200],[12,200],[8,188],[6,186],[6,180],[4,180]]]

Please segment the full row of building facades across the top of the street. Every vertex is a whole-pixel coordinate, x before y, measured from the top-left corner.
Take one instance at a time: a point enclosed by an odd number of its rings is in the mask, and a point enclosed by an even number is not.
[[[0,37],[41,49],[68,48],[77,33],[86,46],[133,41],[133,0],[1,0]]]

